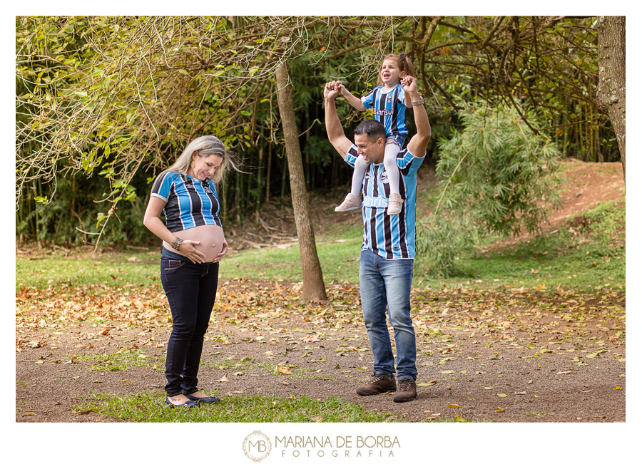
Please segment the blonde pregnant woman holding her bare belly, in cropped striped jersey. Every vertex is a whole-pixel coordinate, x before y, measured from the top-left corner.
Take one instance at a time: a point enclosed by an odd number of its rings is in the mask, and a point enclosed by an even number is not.
[[[235,155],[218,138],[193,140],[156,178],[145,212],[143,224],[163,239],[161,282],[173,321],[165,362],[170,406],[219,401],[198,390],[196,375],[216,298],[218,262],[228,250],[216,183],[230,168],[237,169]]]

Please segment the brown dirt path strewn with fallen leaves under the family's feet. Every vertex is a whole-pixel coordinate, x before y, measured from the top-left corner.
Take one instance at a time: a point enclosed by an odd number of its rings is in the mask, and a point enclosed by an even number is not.
[[[241,393],[340,396],[405,421],[625,421],[621,293],[414,292],[419,387],[417,399],[403,404],[392,395],[355,393],[372,373],[358,292],[333,285],[330,294],[332,304],[305,306],[297,303],[297,285],[230,282],[206,336],[200,385],[222,396],[222,405],[225,396]],[[169,334],[158,325],[163,316],[141,313],[144,324],[131,326],[136,313],[123,314],[128,321],[112,319],[104,329],[75,326],[61,333],[40,319],[41,329],[30,334],[29,321],[20,324],[16,421],[101,421],[72,406],[91,392],[162,389]],[[101,365],[96,357],[113,358],[119,350],[129,357],[127,369],[91,370]],[[137,366],[133,359],[141,354],[144,366]]]

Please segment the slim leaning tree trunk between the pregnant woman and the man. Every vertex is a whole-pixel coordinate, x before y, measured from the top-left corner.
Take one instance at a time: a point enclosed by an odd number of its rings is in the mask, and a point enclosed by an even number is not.
[[[279,114],[285,136],[285,151],[287,153],[287,168],[290,170],[290,190],[292,191],[292,207],[294,208],[301,267],[303,270],[302,297],[312,300],[325,300],[325,284],[321,273],[321,264],[317,256],[315,230],[310,219],[310,209],[305,190],[305,175],[299,146],[299,133],[292,106],[290,76],[287,73],[287,63],[283,62],[277,68],[277,97]]]

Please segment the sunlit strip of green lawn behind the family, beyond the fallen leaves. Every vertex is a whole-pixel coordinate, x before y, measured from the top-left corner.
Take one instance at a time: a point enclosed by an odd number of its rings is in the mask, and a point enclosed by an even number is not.
[[[551,234],[544,234],[504,249],[493,247],[499,239],[483,239],[477,252],[462,256],[456,276],[434,279],[425,273],[422,259],[415,264],[414,285],[480,284],[494,288],[562,287],[590,290],[608,284],[625,288],[626,239],[623,200],[603,202],[570,220]],[[317,236],[317,253],[326,283],[358,283],[362,239],[360,223]],[[92,257],[65,257],[59,252],[37,258],[16,258],[16,289],[46,288],[49,283],[104,284],[132,288],[160,282],[156,251],[126,252]],[[302,282],[299,245],[269,247],[233,253],[220,264],[221,279],[246,277],[266,282]]]

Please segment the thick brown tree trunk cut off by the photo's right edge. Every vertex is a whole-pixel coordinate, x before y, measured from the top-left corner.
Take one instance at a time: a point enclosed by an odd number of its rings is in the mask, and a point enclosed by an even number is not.
[[[613,124],[626,183],[626,20],[599,16],[598,22],[597,101]]]

